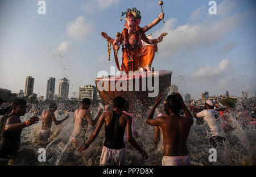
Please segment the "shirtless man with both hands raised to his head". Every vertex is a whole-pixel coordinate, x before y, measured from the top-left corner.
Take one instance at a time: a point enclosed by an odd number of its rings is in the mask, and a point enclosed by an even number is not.
[[[187,138],[193,124],[193,117],[183,103],[181,95],[177,92],[167,97],[167,114],[152,119],[162,96],[163,94],[160,94],[156,98],[154,107],[146,120],[148,125],[159,126],[162,129],[164,145],[162,165],[191,165],[188,156]],[[181,108],[184,110],[185,117],[179,115]]]

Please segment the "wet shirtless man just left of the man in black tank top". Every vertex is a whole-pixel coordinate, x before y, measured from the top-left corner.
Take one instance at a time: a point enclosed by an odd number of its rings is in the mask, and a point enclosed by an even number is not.
[[[90,115],[89,107],[90,107],[90,99],[84,98],[82,100],[81,106],[79,109],[76,109],[74,112],[74,130],[72,132],[72,144],[73,147],[77,147],[81,145],[81,141],[84,141],[85,137],[84,133],[88,128],[88,123],[90,126],[94,127],[96,125],[100,115],[102,114],[102,109],[98,111],[98,115],[93,120],[92,116]]]

